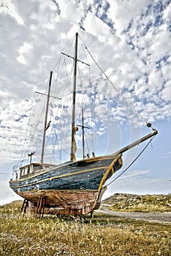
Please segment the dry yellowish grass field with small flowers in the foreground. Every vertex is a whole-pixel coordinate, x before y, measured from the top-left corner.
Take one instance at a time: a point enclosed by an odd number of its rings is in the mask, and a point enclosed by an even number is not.
[[[171,225],[96,215],[85,222],[23,216],[20,206],[0,207],[1,256],[170,256]]]

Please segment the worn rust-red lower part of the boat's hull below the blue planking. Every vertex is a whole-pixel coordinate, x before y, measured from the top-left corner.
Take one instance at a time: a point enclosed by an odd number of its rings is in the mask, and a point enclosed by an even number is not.
[[[29,201],[28,211],[35,214],[84,215],[99,208],[105,189],[94,191],[37,191],[20,192]],[[43,203],[42,203],[43,202]],[[39,210],[38,210],[39,208]],[[43,210],[41,209],[43,208]]]

